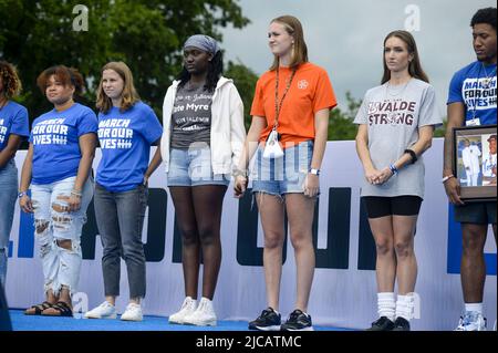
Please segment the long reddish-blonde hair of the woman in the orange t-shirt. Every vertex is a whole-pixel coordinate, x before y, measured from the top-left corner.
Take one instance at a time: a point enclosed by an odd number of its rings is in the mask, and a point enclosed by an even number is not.
[[[278,17],[271,20],[270,23],[273,22],[282,24],[286,31],[294,39],[292,56],[289,66],[295,68],[302,63],[308,62],[308,46],[307,43],[304,42],[304,32],[302,30],[301,22],[293,15],[289,14]],[[279,58],[274,55],[273,63],[271,64],[270,70],[276,70],[278,66],[279,66]]]

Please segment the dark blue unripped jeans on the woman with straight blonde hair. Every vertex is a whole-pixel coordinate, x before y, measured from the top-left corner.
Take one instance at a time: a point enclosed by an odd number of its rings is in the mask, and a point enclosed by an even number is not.
[[[121,258],[128,272],[129,298],[144,298],[145,252],[142,242],[148,189],[145,185],[112,193],[95,184],[95,219],[101,235],[105,295],[120,295]]]

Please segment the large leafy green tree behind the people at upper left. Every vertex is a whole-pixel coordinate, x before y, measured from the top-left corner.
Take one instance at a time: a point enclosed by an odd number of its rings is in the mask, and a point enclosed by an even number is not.
[[[77,68],[87,81],[83,101],[92,106],[101,68],[116,60],[128,64],[142,98],[160,113],[181,69],[181,43],[195,33],[221,40],[220,27],[249,22],[238,0],[101,0],[86,3],[87,31],[74,31],[73,9],[81,2],[0,0],[0,58],[18,66],[31,118],[50,107],[35,86],[44,69]]]

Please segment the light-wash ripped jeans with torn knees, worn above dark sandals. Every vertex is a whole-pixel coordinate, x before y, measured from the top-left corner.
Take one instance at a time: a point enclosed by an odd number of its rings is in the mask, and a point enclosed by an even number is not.
[[[71,293],[77,291],[82,262],[81,230],[86,222],[86,208],[93,197],[93,179],[87,178],[77,211],[63,210],[74,187],[76,177],[45,185],[31,185],[34,208],[34,237],[40,247],[43,266],[44,292],[59,295],[62,285]],[[71,249],[60,247],[70,240]]]

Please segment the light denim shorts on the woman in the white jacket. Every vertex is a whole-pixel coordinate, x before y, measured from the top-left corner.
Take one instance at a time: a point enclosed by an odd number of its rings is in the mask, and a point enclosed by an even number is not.
[[[199,148],[173,148],[169,156],[168,186],[200,186],[230,184],[227,174],[214,174],[211,149],[206,145]]]

